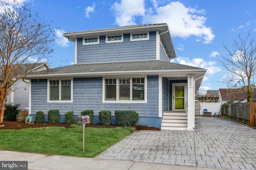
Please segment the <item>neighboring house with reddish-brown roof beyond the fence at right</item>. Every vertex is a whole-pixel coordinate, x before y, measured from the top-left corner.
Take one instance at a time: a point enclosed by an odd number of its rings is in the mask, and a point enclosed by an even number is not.
[[[252,100],[256,100],[256,90],[252,92]],[[220,88],[219,89],[219,102],[224,103],[246,103],[247,94],[242,88]]]

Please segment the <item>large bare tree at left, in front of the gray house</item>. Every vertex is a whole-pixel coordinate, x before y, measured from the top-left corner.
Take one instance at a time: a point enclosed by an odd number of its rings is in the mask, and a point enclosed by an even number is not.
[[[50,24],[41,20],[27,5],[1,2],[0,124],[3,124],[4,104],[11,86],[31,73],[36,63],[47,61],[53,52],[53,41]]]

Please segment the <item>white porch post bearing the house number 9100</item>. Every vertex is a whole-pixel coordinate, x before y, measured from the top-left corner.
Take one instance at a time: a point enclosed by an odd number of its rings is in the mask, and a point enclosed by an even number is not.
[[[188,76],[188,128],[187,131],[194,131],[195,127],[195,88],[194,76]]]

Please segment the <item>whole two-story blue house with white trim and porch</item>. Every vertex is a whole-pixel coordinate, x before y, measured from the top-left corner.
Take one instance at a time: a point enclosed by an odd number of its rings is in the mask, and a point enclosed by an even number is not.
[[[168,25],[149,24],[65,33],[75,43],[75,64],[28,75],[30,110],[35,116],[58,109],[64,113],[134,110],[138,125],[194,131],[195,92],[203,68],[170,63],[176,58]],[[177,120],[178,119],[178,120]],[[182,120],[181,120],[182,119]]]

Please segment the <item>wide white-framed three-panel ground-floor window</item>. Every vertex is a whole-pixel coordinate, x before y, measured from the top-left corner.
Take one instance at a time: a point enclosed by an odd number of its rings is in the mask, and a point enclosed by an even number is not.
[[[146,77],[103,78],[103,102],[146,103]]]

